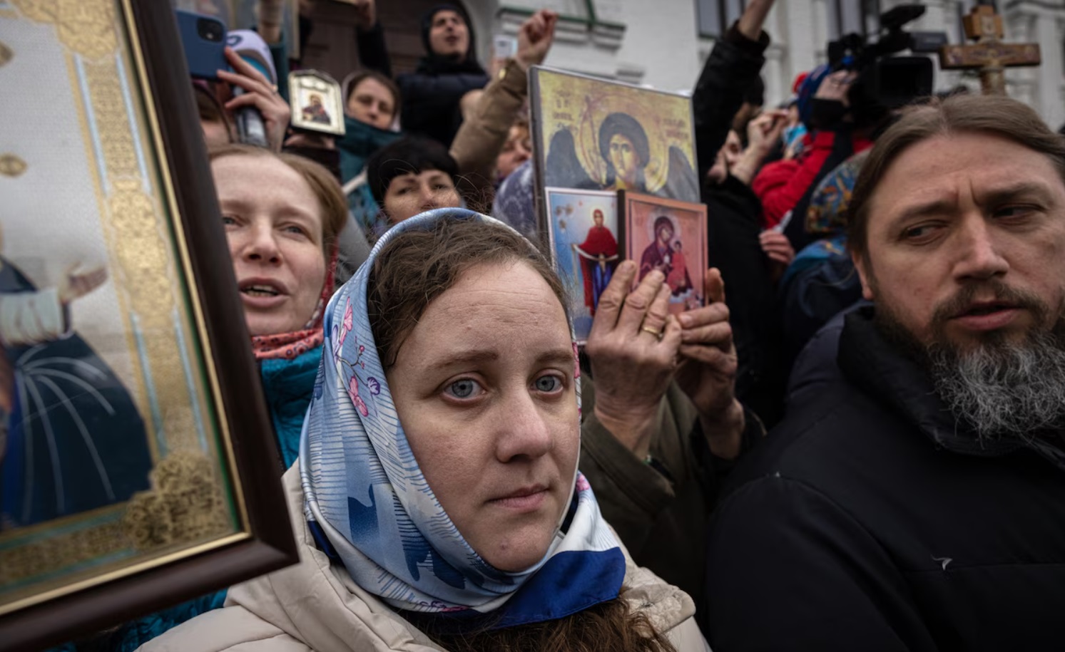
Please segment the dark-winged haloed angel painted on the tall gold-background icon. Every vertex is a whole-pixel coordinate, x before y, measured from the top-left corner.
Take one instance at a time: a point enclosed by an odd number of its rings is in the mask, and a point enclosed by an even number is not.
[[[651,163],[648,132],[627,113],[611,113],[599,129],[599,153],[606,164],[606,177],[600,183],[580,165],[573,132],[562,129],[551,138],[544,166],[548,186],[579,189],[626,189],[682,201],[699,201],[695,171],[679,147],[669,148],[666,183],[655,190],[648,188],[646,167]]]

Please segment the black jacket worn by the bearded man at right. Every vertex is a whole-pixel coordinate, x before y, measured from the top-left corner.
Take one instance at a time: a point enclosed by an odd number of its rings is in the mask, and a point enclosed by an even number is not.
[[[718,507],[714,649],[1063,649],[1065,453],[981,446],[868,308],[848,316],[839,366]]]

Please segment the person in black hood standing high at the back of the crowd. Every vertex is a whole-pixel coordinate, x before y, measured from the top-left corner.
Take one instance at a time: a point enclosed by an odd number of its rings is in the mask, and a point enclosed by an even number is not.
[[[450,147],[462,124],[461,101],[488,84],[477,63],[470,17],[458,5],[441,4],[422,20],[426,55],[417,69],[396,77],[403,95],[404,131],[428,136]]]

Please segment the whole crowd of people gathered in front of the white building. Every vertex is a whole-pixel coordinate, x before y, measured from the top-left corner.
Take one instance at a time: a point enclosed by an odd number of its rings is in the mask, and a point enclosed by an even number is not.
[[[343,137],[231,50],[193,87],[299,564],[68,648],[1062,645],[1065,140],[1034,111],[826,67],[765,107],[749,0],[692,89],[706,304],[621,262],[578,349],[526,102],[558,16],[486,70],[440,5],[393,77],[354,4]]]

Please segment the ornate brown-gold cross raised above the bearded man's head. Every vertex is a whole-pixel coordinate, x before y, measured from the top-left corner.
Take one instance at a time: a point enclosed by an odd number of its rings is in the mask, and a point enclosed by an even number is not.
[[[944,70],[979,70],[984,95],[1005,95],[1005,68],[1038,66],[1039,46],[1034,43],[1002,43],[1002,17],[995,7],[980,4],[962,19],[967,46],[944,46],[939,67]]]

